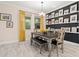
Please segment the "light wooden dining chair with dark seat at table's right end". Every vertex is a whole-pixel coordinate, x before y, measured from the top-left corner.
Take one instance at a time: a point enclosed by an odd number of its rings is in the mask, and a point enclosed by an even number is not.
[[[58,37],[56,38],[56,40],[52,41],[52,44],[54,45],[54,47],[56,47],[57,50],[57,56],[59,56],[58,54],[58,46],[61,45],[61,50],[63,53],[63,43],[64,43],[64,36],[65,36],[65,31],[63,28],[61,28],[61,30],[58,31]]]

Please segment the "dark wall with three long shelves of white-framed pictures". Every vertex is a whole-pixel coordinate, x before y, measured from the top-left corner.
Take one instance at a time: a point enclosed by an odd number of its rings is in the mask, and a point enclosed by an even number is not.
[[[79,43],[79,2],[47,13],[46,24],[46,28],[63,28],[66,32],[65,40]]]

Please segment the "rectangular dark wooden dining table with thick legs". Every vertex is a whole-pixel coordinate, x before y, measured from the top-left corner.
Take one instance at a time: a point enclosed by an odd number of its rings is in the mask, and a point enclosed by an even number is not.
[[[41,37],[42,39],[44,39],[45,41],[47,41],[48,43],[48,57],[51,56],[51,49],[52,49],[52,40],[56,40],[57,36],[52,34],[51,35],[51,32],[49,33],[49,35],[46,35],[46,33],[41,33],[41,32],[32,32],[31,33],[31,44],[32,44],[32,38],[33,38],[33,35],[37,35],[39,37]]]

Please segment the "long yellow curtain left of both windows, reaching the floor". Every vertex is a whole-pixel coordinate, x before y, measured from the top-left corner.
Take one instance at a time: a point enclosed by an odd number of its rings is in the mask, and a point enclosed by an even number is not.
[[[25,41],[25,12],[19,10],[19,41]]]

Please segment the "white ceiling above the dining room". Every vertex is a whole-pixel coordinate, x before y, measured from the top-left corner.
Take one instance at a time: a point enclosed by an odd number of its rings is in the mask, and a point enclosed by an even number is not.
[[[47,13],[54,9],[61,8],[75,1],[43,1],[43,12]],[[2,3],[2,2],[1,2]],[[41,1],[6,1],[3,3],[19,5],[25,8],[41,12]]]

